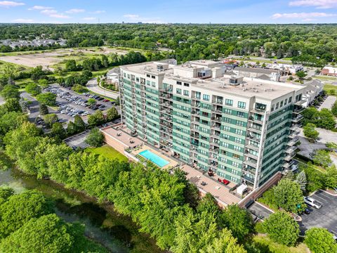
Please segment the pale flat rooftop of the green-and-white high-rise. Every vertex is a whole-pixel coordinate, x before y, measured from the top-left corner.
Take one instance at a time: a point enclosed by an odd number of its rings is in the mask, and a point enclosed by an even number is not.
[[[257,97],[268,100],[274,100],[275,98],[279,98],[280,96],[284,96],[293,91],[299,91],[301,89],[305,89],[305,86],[300,86],[297,84],[291,83],[280,83],[274,82],[265,79],[255,79],[251,77],[243,77],[242,84],[237,86],[230,85],[230,78],[232,76],[228,74],[220,74],[219,77],[210,77],[206,79],[201,78],[192,78],[188,76],[184,76],[183,74],[175,75],[173,72],[174,68],[179,68],[180,70],[186,69],[190,71],[194,68],[200,68],[200,65],[205,65],[204,69],[207,70],[216,70],[220,66],[216,65],[217,62],[213,62],[211,60],[194,60],[189,64],[183,65],[168,65],[166,70],[158,70],[157,66],[161,64],[161,62],[149,62],[149,63],[139,63],[133,65],[122,66],[121,70],[126,70],[138,74],[145,73],[154,73],[154,74],[164,74],[164,78],[166,79],[175,79],[177,81],[188,82],[191,87],[198,87],[201,89],[207,89],[209,91],[221,92],[224,94],[231,94],[234,96],[242,96],[246,98]],[[162,64],[165,64],[164,62]],[[166,64],[167,65],[167,64]],[[196,66],[198,65],[198,66]],[[209,65],[213,65],[215,67],[206,67]],[[235,76],[237,77],[237,76]]]

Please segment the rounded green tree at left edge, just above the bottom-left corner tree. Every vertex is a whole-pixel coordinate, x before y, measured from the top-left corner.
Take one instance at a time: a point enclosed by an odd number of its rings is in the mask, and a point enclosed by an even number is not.
[[[18,230],[27,221],[53,212],[53,204],[37,190],[11,195],[0,205],[0,238]],[[1,250],[0,250],[1,252]]]

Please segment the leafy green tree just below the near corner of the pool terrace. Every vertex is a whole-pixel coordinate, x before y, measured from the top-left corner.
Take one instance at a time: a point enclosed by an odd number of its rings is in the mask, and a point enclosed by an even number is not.
[[[229,205],[222,214],[223,223],[232,231],[234,238],[244,242],[247,235],[253,232],[253,220],[246,209],[238,205]]]

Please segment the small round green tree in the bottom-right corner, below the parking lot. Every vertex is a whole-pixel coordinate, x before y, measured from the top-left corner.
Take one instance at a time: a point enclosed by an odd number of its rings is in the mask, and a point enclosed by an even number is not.
[[[312,253],[337,252],[337,243],[333,234],[326,228],[310,228],[305,232],[305,244]]]

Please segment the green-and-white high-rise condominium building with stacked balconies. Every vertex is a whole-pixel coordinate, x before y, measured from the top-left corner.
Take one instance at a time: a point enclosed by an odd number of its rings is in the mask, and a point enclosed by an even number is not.
[[[186,164],[257,188],[291,166],[308,91],[224,73],[211,60],[123,66],[122,121]]]

